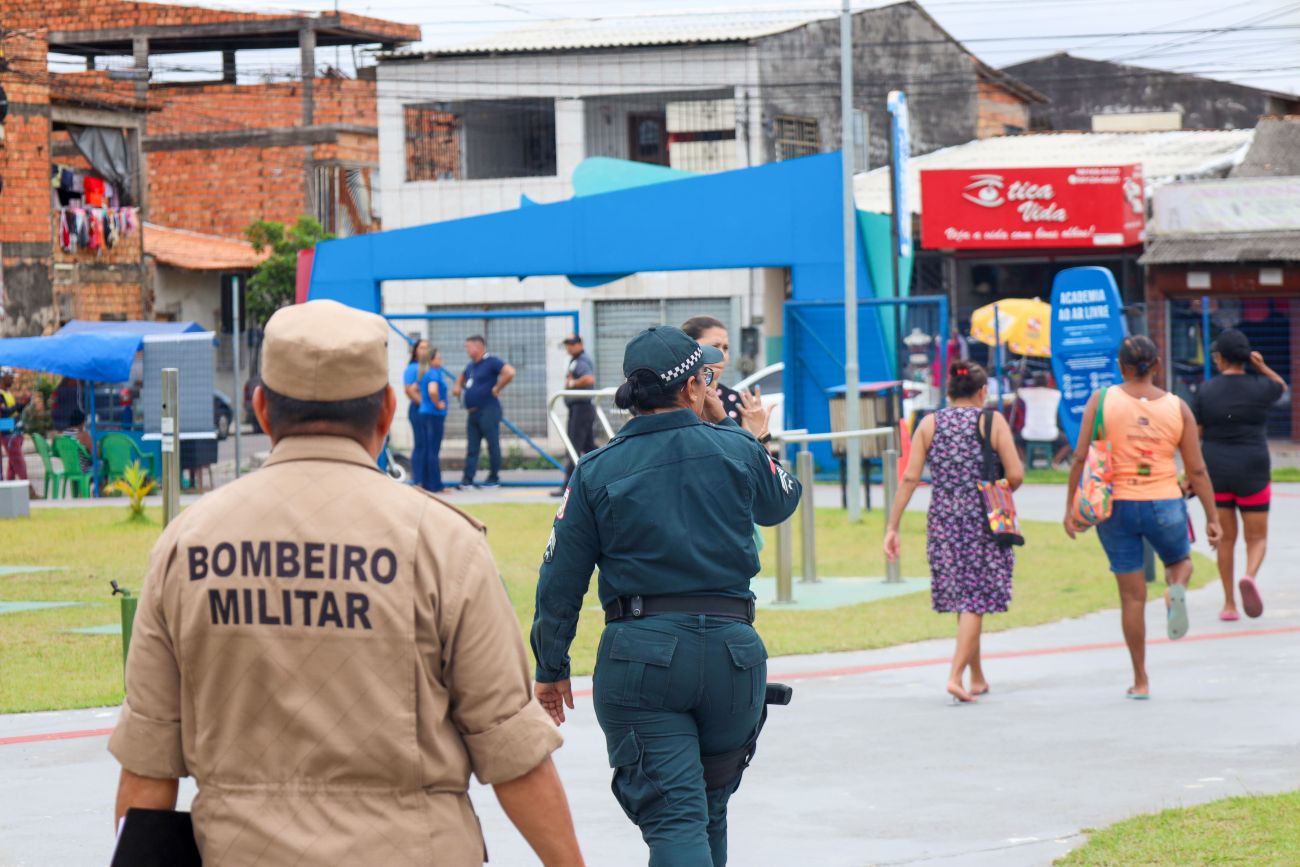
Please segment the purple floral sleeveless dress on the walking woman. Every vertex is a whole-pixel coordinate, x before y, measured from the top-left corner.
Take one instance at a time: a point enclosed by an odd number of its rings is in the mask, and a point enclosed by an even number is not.
[[[931,604],[935,611],[991,614],[1011,603],[1015,555],[988,529],[984,500],[975,486],[983,455],[975,407],[948,407],[935,413],[930,443],[928,541]]]

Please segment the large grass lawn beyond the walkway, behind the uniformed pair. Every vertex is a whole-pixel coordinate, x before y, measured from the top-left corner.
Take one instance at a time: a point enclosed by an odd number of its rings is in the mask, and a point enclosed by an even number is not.
[[[526,630],[533,614],[537,567],[550,533],[554,507],[474,506],[468,511],[488,524],[489,541],[511,601]],[[66,567],[60,572],[0,576],[0,601],[81,602],[70,608],[0,614],[0,712],[94,707],[122,698],[121,638],[69,634],[77,627],[120,620],[109,581],[139,590],[148,551],[161,529],[125,520],[125,507],[36,510],[26,520],[0,521],[5,564]],[[883,515],[878,510],[850,526],[844,512],[819,510],[818,569],[823,576],[883,576]],[[924,515],[904,521],[905,576],[924,576]],[[985,620],[988,630],[1074,617],[1117,604],[1114,581],[1089,533],[1070,542],[1057,524],[1026,523],[1028,543],[1018,549],[1011,611]],[[797,536],[797,534],[796,534]],[[772,575],[774,532],[767,532],[762,575]],[[796,542],[794,563],[800,563]],[[1199,558],[1196,582],[1213,567]],[[573,672],[592,672],[603,625],[594,585],[573,645]],[[796,590],[796,595],[797,590]],[[760,611],[758,628],[772,655],[885,647],[953,633],[953,619],[935,615],[926,593],[829,611]],[[1118,624],[1115,640],[1119,638]]]

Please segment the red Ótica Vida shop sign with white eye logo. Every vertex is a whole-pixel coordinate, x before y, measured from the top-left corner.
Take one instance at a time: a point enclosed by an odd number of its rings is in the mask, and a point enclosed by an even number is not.
[[[1130,247],[1145,225],[1140,165],[920,173],[928,250]]]

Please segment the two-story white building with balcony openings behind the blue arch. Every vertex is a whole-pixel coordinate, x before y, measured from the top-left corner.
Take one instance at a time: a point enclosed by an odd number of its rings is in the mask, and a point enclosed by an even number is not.
[[[707,173],[838,149],[838,29],[835,17],[809,13],[646,14],[545,22],[458,48],[385,55],[384,227],[568,199],[588,157]],[[909,91],[916,152],[1019,133],[1041,100],[913,1],[854,13],[853,61],[859,166],[887,160],[890,90]],[[734,380],[780,356],[786,286],[783,272],[758,269],[642,273],[594,287],[562,276],[411,281],[385,286],[385,308],[578,309],[602,386],[621,381],[623,346],[640,329],[705,313],[731,329]],[[541,406],[562,385],[558,343],[567,328],[566,320],[456,320],[430,322],[426,333],[456,368],[462,339],[485,330],[489,346],[520,368],[512,400],[523,407]],[[545,419],[536,419],[529,433],[545,433]]]

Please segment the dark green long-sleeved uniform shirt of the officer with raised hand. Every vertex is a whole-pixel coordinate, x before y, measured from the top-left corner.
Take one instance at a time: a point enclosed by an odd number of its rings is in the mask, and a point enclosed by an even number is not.
[[[573,471],[542,558],[533,619],[537,680],[569,676],[568,649],[599,567],[601,604],[630,595],[754,598],[754,524],[800,502],[800,482],[729,419],[632,419]]]

